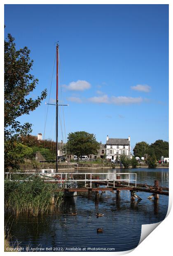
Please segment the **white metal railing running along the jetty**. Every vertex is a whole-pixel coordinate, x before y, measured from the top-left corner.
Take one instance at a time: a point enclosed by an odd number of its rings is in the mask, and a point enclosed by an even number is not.
[[[128,185],[130,184],[131,181],[135,181],[135,187],[136,187],[136,173],[53,173],[53,172],[42,172],[42,173],[5,173],[7,176],[7,179],[9,177],[9,180],[12,180],[12,174],[30,174],[29,177],[27,177],[24,180],[16,180],[16,181],[28,181],[31,180],[30,178],[33,175],[39,175],[40,177],[44,178],[44,181],[49,181],[49,182],[58,182],[61,187],[63,184],[65,185],[65,188],[67,187],[67,184],[65,183],[66,181],[76,181],[76,182],[84,182],[85,187],[86,183],[90,184],[90,187],[92,187],[92,183],[97,183],[97,182],[106,182],[107,181],[107,186],[109,185],[109,182],[113,182],[113,187],[115,187],[115,182],[121,182],[121,181],[126,181],[128,182]],[[79,177],[80,175],[80,177]],[[82,175],[84,178],[82,178]],[[95,175],[95,178],[94,178]],[[100,175],[102,176],[100,178]],[[122,175],[124,176],[122,178]],[[132,177],[135,176],[135,179]],[[56,177],[55,177],[56,176]],[[74,177],[75,178],[74,178]],[[76,177],[78,176],[78,177]]]

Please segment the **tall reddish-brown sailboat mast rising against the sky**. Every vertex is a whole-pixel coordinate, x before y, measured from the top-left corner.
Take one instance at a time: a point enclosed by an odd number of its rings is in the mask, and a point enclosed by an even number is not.
[[[56,44],[56,173],[58,172],[58,47]]]

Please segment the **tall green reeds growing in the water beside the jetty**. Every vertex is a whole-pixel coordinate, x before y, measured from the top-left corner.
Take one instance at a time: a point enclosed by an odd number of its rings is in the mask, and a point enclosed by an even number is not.
[[[27,182],[5,180],[5,210],[17,215],[27,213],[34,216],[48,212],[53,196],[54,204],[63,198],[63,192],[54,192],[56,188],[56,184],[37,177]]]

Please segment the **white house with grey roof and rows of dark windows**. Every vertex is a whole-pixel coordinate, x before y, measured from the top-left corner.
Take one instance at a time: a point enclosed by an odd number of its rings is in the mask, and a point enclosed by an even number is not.
[[[107,159],[115,160],[121,155],[130,156],[130,136],[128,139],[111,139],[107,135],[105,147]]]

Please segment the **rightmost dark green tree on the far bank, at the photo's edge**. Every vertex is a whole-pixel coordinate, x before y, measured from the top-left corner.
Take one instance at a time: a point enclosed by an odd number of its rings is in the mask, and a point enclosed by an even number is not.
[[[169,157],[169,142],[164,140],[156,140],[150,145],[150,148],[154,150],[154,154],[158,159],[161,159],[161,156]]]

